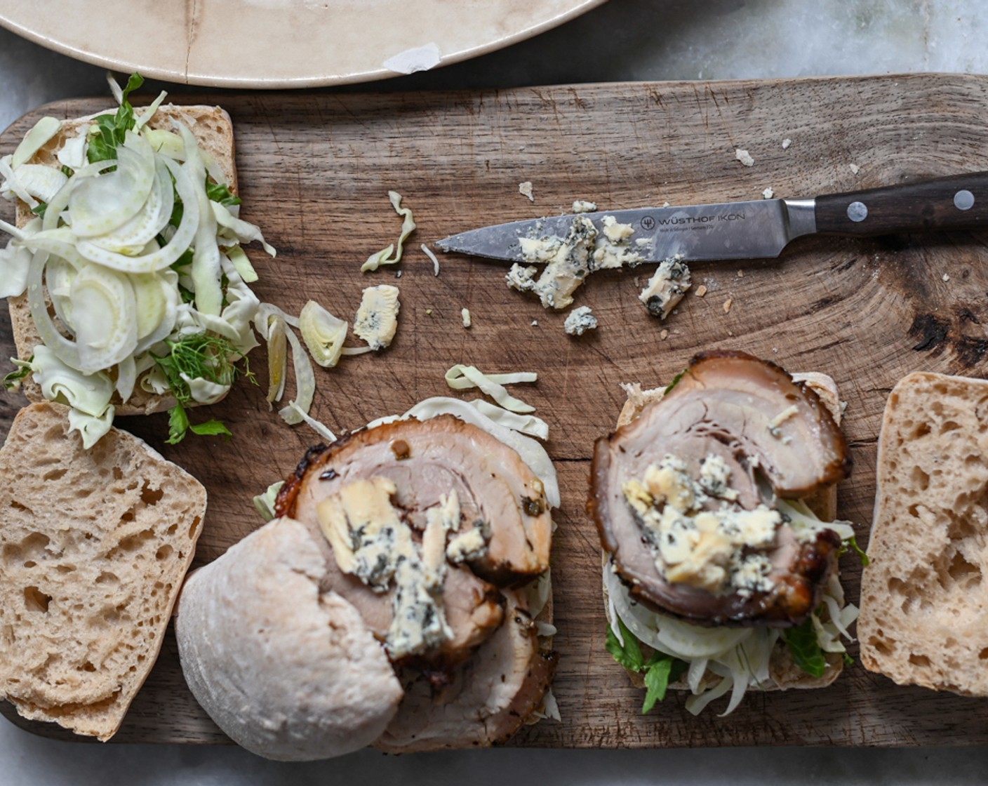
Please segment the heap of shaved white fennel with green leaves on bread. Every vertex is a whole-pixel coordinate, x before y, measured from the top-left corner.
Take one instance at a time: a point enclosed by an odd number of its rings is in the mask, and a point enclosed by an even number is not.
[[[40,200],[43,214],[21,229],[0,222],[12,235],[0,251],[0,296],[27,292],[42,341],[32,373],[46,397],[73,407],[87,447],[110,428],[110,401],[133,391],[176,398],[171,441],[225,431],[190,424],[185,406],[222,397],[234,364],[257,346],[260,303],[247,286],[257,273],[239,244],[275,253],[239,218],[239,200],[191,131],[148,127],[164,94],[134,113],[128,96],[142,81],[135,74],[122,90],[111,80],[120,107],[53,151],[61,170],[31,163],[61,130],[50,118],[0,159],[0,195]]]

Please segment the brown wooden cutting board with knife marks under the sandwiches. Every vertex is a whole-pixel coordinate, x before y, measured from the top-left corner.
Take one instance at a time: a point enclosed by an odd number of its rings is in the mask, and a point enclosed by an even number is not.
[[[549,424],[548,449],[562,486],[553,579],[560,654],[554,691],[563,721],[527,728],[513,744],[988,743],[988,701],[898,687],[857,663],[825,690],[751,694],[727,718],[710,710],[692,717],[682,695],[641,716],[641,693],[604,649],[597,535],[584,512],[594,440],[613,427],[624,398],[618,383],[665,384],[698,350],[734,348],[792,372],[836,378],[849,401],[845,423],[855,461],[854,477],[841,487],[840,512],[866,542],[875,441],[889,390],[914,370],[988,370],[988,234],[803,238],[776,261],[695,264],[694,292],[665,322],[637,300],[650,268],[596,274],[577,305],[592,306],[601,326],[582,338],[563,333],[564,314],[509,290],[502,266],[441,257],[437,278],[420,250],[462,229],[558,214],[574,199],[609,210],[752,200],[769,187],[777,196],[805,197],[988,169],[988,79],[229,93],[210,100],[233,117],[243,215],[279,250],[274,260],[251,250],[262,301],[297,313],[314,298],[352,320],[363,287],[401,289],[390,349],[317,369],[315,416],[340,432],[450,394],[443,375],[455,363],[538,372],[537,384],[517,393]],[[0,154],[42,114],[75,117],[107,103],[69,101],[31,113],[0,138]],[[739,147],[754,166],[735,160]],[[519,194],[523,181],[533,184],[534,204]],[[391,268],[360,272],[371,252],[397,236],[389,189],[404,195],[419,224],[400,279]],[[473,317],[468,330],[462,307]],[[0,356],[11,354],[4,316]],[[252,360],[260,387],[241,382],[209,412],[229,424],[229,442],[193,437],[170,447],[163,442],[165,415],[119,421],[206,484],[199,564],[260,526],[252,495],[287,476],[318,441],[306,426],[288,427],[269,411],[263,350]],[[5,434],[22,400],[7,394],[0,402]],[[860,572],[856,560],[844,559],[855,601]],[[169,634],[115,741],[225,742],[185,687],[175,650]],[[857,655],[856,647],[851,651]],[[9,705],[3,712],[31,731],[69,737],[18,719]]]

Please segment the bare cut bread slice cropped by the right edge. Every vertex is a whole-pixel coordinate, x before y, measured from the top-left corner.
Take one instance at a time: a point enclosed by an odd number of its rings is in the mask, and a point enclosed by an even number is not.
[[[988,696],[988,381],[921,372],[889,394],[867,554],[865,668]]]

